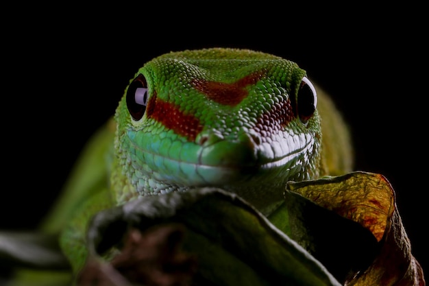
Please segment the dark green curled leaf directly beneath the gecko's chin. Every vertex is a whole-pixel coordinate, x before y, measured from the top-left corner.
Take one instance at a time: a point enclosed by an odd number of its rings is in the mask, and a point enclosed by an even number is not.
[[[255,208],[211,188],[147,197],[102,211],[88,233],[90,257],[121,249],[129,229],[145,233],[166,224],[186,230],[183,249],[197,259],[193,285],[340,285]],[[122,235],[114,235],[118,233]]]

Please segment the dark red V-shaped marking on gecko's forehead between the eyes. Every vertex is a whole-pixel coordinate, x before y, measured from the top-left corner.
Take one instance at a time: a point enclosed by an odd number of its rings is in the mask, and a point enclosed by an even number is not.
[[[210,82],[208,80],[193,80],[193,86],[204,93],[208,99],[212,99],[219,104],[236,106],[247,95],[249,91],[245,89],[249,84],[256,84],[265,73],[251,73],[244,78],[226,84],[224,82]]]

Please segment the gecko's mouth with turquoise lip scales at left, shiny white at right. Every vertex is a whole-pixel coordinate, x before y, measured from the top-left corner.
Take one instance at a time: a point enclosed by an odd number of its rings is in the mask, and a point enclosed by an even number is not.
[[[187,187],[224,186],[296,176],[309,163],[314,136],[299,134],[259,144],[250,138],[203,145],[171,142],[163,148],[160,144],[132,143],[142,158],[139,164],[147,165],[144,169],[157,180]]]

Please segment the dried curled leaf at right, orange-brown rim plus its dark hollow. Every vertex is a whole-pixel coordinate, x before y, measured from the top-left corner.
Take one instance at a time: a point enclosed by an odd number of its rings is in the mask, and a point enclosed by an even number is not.
[[[297,194],[303,199],[299,199]],[[315,241],[317,243],[322,241],[323,244],[326,243],[326,236],[336,239],[341,233],[341,230],[332,230],[334,235],[330,235],[328,232],[321,234],[315,230],[315,227],[311,228],[314,225],[312,219],[314,220],[315,216],[323,213],[322,208],[369,230],[376,239],[378,246],[375,246],[374,241],[370,239],[362,240],[361,238],[366,236],[365,231],[358,230],[357,226],[350,227],[354,230],[352,235],[346,235],[347,233],[344,231],[342,239],[348,241],[348,247],[345,250],[357,248],[366,251],[364,261],[373,256],[367,267],[364,267],[365,263],[362,263],[360,269],[356,269],[356,265],[349,263],[350,273],[341,273],[345,285],[426,285],[423,270],[411,253],[410,240],[406,235],[395,203],[395,192],[384,176],[356,171],[343,176],[314,181],[289,182],[285,195],[287,207],[291,210],[289,214],[291,224],[294,225],[291,226],[291,236],[297,237],[299,243],[322,263],[328,261],[326,257],[328,254],[323,253],[322,250],[329,243],[315,246]],[[304,198],[319,208],[311,206],[309,202],[305,202]],[[301,201],[301,206],[292,205],[292,202],[299,201]],[[303,215],[299,213],[300,211],[305,212],[304,219]],[[339,221],[341,219],[333,217],[332,222],[335,222],[336,226],[340,225]],[[323,223],[328,226],[330,222]],[[313,237],[315,234],[323,235],[325,239],[315,239]],[[359,236],[357,241],[352,237],[356,235]],[[362,255],[358,257],[363,258]],[[336,267],[341,267],[344,263],[341,260],[331,263],[328,270],[334,271]]]

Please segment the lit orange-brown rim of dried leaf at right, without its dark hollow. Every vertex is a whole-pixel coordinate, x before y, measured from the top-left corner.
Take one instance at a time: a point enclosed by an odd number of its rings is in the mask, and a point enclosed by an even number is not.
[[[356,273],[354,278],[345,282],[347,286],[425,286],[424,273],[421,265],[411,253],[411,243],[406,235],[399,211],[395,201],[395,191],[389,180],[381,174],[365,171],[354,171],[343,176],[330,177],[318,180],[318,184],[345,183],[347,189],[336,190],[341,195],[336,195],[332,200],[331,195],[321,195],[320,192],[306,192],[306,188],[300,189],[305,182],[290,182],[288,188],[300,193],[319,206],[328,208],[347,219],[358,222],[368,228],[381,243],[380,253],[374,259],[367,270]],[[308,184],[308,182],[307,182]],[[356,188],[356,185],[358,186]],[[303,190],[303,191],[302,191]],[[347,195],[347,192],[349,194]],[[358,195],[356,193],[360,192]],[[374,200],[384,192],[384,198],[391,200]],[[367,208],[371,208],[371,215],[378,213],[378,217],[371,217],[369,222],[361,216],[350,215],[356,213],[356,205],[350,204],[351,198],[371,198],[367,200]],[[360,202],[361,203],[361,202]],[[360,205],[362,207],[362,205]],[[365,206],[364,206],[365,207]],[[376,218],[376,219],[374,219]],[[380,235],[380,229],[384,229]]]

